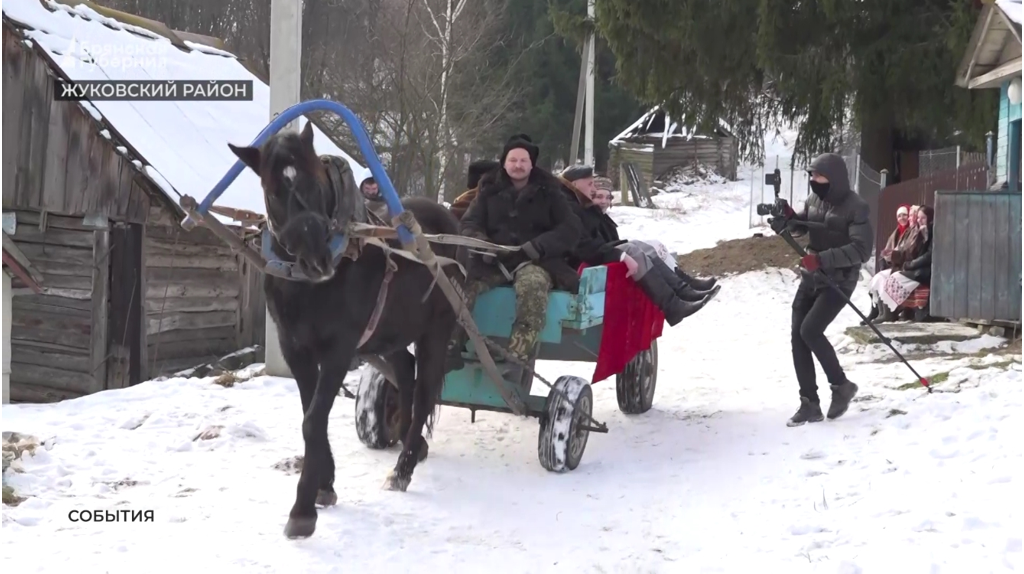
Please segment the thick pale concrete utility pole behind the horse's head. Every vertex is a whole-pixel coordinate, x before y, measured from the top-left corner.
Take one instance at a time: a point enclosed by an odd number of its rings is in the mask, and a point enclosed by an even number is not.
[[[302,88],[302,0],[270,0],[270,121],[299,103]],[[297,130],[295,120],[286,129]],[[266,315],[266,373],[292,377],[281,353],[278,327]]]

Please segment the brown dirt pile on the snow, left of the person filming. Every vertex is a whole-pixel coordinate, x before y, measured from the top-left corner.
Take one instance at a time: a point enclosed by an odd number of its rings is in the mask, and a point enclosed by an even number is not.
[[[797,241],[807,246],[805,238]],[[676,260],[687,273],[702,276],[745,273],[769,267],[792,269],[800,264],[793,248],[770,231],[766,235],[719,241],[713,248],[696,250]]]

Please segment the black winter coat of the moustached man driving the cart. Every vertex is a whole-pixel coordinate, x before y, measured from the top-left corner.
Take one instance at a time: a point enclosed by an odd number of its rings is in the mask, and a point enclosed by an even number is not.
[[[522,246],[517,253],[499,261],[511,272],[532,259],[551,275],[555,289],[575,292],[580,278],[565,258],[575,249],[583,231],[555,176],[534,168],[529,181],[516,189],[504,169],[484,175],[476,197],[462,216],[463,235],[503,246]],[[467,270],[479,276],[486,266],[473,258]]]

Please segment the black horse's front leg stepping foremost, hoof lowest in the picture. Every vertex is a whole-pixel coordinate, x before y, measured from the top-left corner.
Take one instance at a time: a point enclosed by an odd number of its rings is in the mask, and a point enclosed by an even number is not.
[[[302,420],[302,439],[306,446],[305,459],[296,488],[295,504],[288,515],[288,524],[285,525],[285,535],[289,538],[304,538],[316,530],[315,503],[321,477],[327,474],[330,466],[328,417],[331,408],[334,407],[334,399],[337,398],[341,384],[348,373],[348,365],[351,364],[352,356],[355,354],[357,338],[357,334],[344,333],[321,355],[319,378],[309,409]]]

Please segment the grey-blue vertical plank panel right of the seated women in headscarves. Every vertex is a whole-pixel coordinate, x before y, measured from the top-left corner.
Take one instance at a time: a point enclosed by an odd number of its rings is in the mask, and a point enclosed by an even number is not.
[[[1021,320],[1020,193],[935,194],[931,313]]]

